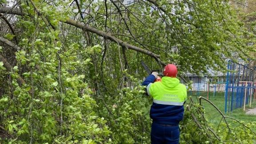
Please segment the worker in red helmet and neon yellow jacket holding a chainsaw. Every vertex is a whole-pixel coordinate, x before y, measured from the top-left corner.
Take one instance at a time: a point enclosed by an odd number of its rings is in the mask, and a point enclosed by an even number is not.
[[[187,99],[187,89],[176,78],[177,73],[177,67],[168,64],[164,67],[161,81],[154,82],[158,78],[158,72],[152,72],[142,83],[147,86],[147,95],[153,98],[150,109],[153,120],[151,144],[179,144],[179,122],[184,115],[183,105]]]

